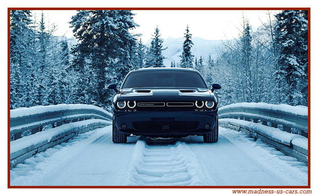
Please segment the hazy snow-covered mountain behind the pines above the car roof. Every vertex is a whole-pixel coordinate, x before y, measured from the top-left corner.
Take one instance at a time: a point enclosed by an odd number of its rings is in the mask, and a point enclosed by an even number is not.
[[[166,67],[170,67],[172,60],[176,63],[180,63],[183,41],[184,38],[168,37],[164,39],[163,47],[168,47],[163,51],[163,56],[167,58],[164,60],[164,65]],[[209,53],[212,57],[215,57],[219,45],[222,44],[221,40],[206,40],[201,37],[194,37],[192,42],[193,47],[191,48],[191,52],[197,59],[199,59],[200,56],[206,58]],[[148,44],[150,44],[150,40],[146,42],[146,45]]]

